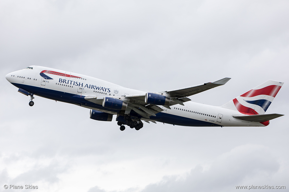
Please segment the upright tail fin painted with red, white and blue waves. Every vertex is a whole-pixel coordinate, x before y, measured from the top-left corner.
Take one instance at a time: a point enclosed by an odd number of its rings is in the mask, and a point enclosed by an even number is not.
[[[282,85],[282,82],[268,80],[221,107],[233,109],[246,115],[264,114]]]

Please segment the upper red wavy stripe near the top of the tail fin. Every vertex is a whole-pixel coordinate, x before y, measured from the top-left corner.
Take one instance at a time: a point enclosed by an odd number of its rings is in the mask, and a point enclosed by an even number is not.
[[[250,91],[240,95],[241,97],[254,97],[257,95],[269,95],[275,97],[278,91],[281,89],[281,86],[278,85],[269,85],[262,89],[251,89]]]

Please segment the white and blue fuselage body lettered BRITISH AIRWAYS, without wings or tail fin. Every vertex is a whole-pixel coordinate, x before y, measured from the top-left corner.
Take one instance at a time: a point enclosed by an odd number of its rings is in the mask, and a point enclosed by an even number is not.
[[[22,69],[6,75],[6,79],[18,88],[45,98],[77,104],[82,107],[117,114],[118,111],[105,109],[70,99],[73,96],[125,96],[145,94],[146,92],[133,90],[120,85],[103,81],[94,77],[73,72],[62,71],[42,66],[29,66],[33,69]],[[42,73],[41,73],[42,72]],[[56,73],[56,74],[55,74]],[[51,79],[49,79],[49,77]],[[235,119],[233,115],[242,115],[239,111],[218,106],[210,106],[192,101],[184,102],[184,106],[176,104],[157,114],[155,121],[181,126],[264,126],[259,122],[246,122]]]

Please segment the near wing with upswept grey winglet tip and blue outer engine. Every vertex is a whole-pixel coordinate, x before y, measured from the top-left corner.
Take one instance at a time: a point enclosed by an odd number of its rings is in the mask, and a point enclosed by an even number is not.
[[[124,107],[121,108],[121,110],[124,111],[124,114],[129,114],[130,111],[133,110],[139,115],[141,115],[143,118],[149,119],[149,116],[151,115],[156,116],[155,114],[164,111],[164,109],[162,109],[160,105],[168,109],[171,109],[170,106],[175,104],[184,105],[183,102],[190,101],[190,99],[187,98],[187,96],[191,96],[212,89],[214,87],[224,85],[230,79],[231,78],[224,78],[219,81],[215,81],[213,83],[209,82],[191,87],[169,90],[165,92],[143,93],[136,95],[110,96],[110,97],[107,96],[96,97],[88,95],[85,96],[85,99],[90,102],[103,105],[104,100],[112,100],[112,102],[120,100],[123,103],[125,103],[123,105]],[[151,102],[151,100],[154,100],[155,102]]]

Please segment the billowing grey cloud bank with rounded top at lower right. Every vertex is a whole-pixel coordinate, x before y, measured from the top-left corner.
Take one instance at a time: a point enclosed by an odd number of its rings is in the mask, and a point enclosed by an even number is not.
[[[244,181],[252,181],[260,175],[273,175],[278,169],[279,163],[268,149],[258,145],[244,145],[218,157],[208,170],[198,165],[185,179],[169,176],[159,183],[148,185],[143,192],[232,191],[236,189],[235,185],[242,185]]]

